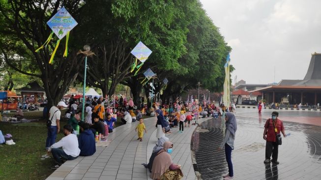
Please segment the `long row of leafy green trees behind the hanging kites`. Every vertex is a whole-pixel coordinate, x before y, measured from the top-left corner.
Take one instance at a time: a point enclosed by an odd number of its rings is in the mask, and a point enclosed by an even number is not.
[[[35,50],[51,33],[46,22],[62,3],[78,26],[70,32],[68,57],[63,57],[61,43],[49,64],[57,37],[38,53]],[[0,20],[0,68],[8,69],[7,82],[12,71],[40,78],[50,106],[76,78],[83,81],[84,56],[77,52],[85,44],[95,53],[88,59],[87,85],[104,95],[114,94],[122,83],[137,102],[143,88],[146,95],[150,90],[148,83],[141,84],[147,68],[157,73],[157,91],[165,77],[169,80],[164,99],[195,88],[197,82],[211,91],[223,89],[224,63],[231,48],[198,0],[0,0]],[[130,52],[139,41],[153,53],[135,75]]]

